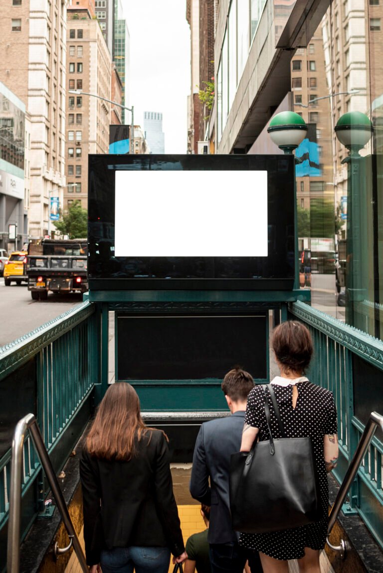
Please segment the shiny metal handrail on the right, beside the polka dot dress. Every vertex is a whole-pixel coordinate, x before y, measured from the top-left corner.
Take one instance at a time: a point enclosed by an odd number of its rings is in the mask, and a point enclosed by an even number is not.
[[[352,482],[358,472],[359,466],[366,454],[366,451],[371,443],[372,438],[374,437],[374,433],[377,429],[377,426],[380,426],[381,430],[383,431],[383,416],[378,414],[377,412],[372,412],[370,414],[369,420],[366,423],[366,427],[364,432],[359,440],[359,444],[357,449],[355,450],[354,456],[350,462],[349,467],[347,468],[347,472],[345,473],[345,477],[343,477],[343,481],[341,487],[339,488],[337,497],[335,498],[334,505],[330,509],[329,514],[329,527],[327,528],[327,545],[331,547],[334,551],[339,551],[341,553],[341,558],[345,556],[346,551],[346,544],[343,539],[341,539],[340,545],[331,545],[329,541],[330,533],[334,527],[335,521],[339,515],[339,511],[341,511],[342,505],[346,499],[347,493],[351,487]]]

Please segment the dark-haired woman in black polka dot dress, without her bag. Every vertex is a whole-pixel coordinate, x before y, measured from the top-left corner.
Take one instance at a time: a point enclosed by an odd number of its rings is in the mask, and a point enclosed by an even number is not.
[[[280,376],[272,380],[272,387],[284,429],[289,438],[309,435],[312,439],[324,517],[293,529],[241,533],[240,545],[259,551],[264,573],[287,573],[288,559],[298,559],[299,571],[320,573],[319,552],[325,547],[328,523],[326,472],[335,467],[338,458],[337,411],[333,394],[303,375],[312,355],[310,332],[303,324],[287,321],[276,327],[272,348],[280,368]],[[270,410],[271,431],[279,438],[278,421],[273,409]],[[251,450],[257,437],[260,441],[269,439],[261,386],[255,386],[248,396],[241,451]]]

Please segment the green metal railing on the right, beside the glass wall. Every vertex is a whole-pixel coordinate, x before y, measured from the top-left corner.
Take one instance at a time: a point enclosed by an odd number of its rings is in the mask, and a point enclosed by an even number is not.
[[[367,419],[365,423],[359,419],[355,412],[361,408],[354,399],[357,392],[355,362],[362,360],[366,375],[370,369],[376,372],[376,379],[381,380],[383,342],[301,302],[290,304],[288,314],[310,329],[314,341],[314,356],[308,372],[311,382],[328,388],[334,394],[338,411],[339,460],[333,473],[341,483],[367,422]],[[368,384],[365,390],[367,399]],[[381,390],[374,394],[373,399],[376,403],[371,411],[377,410],[382,414]],[[383,443],[374,436],[351,485],[349,501],[343,506],[343,512],[359,513],[383,548],[382,454]]]

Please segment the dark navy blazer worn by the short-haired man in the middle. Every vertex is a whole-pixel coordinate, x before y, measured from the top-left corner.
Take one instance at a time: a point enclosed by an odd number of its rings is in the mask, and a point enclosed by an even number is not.
[[[233,543],[229,500],[230,456],[239,452],[245,412],[204,422],[194,448],[190,493],[210,505],[209,543]],[[209,487],[209,477],[210,486]]]

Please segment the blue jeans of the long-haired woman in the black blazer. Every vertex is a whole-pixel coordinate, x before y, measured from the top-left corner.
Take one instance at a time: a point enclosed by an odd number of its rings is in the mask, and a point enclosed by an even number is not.
[[[103,573],[167,573],[170,551],[167,547],[114,547],[101,551]]]

